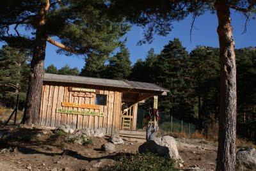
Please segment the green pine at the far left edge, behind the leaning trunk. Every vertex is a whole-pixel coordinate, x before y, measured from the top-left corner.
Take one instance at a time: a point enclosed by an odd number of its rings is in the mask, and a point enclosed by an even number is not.
[[[25,52],[17,48],[4,46],[0,50],[0,99],[3,105],[13,107],[16,95],[13,94],[15,89],[8,86],[9,84],[20,86],[20,107],[24,107],[25,93],[28,83],[27,64],[28,57]]]

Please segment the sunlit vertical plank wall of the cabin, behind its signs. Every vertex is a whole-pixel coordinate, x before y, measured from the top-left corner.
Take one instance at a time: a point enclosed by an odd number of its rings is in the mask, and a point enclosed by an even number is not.
[[[72,92],[68,91],[68,86],[70,85],[43,85],[40,105],[40,125],[58,127],[61,124],[68,124],[74,129],[106,128],[108,135],[119,133],[122,103],[122,93],[120,91],[108,90],[106,87],[100,89],[100,94],[107,95],[107,105],[100,106],[100,110],[62,107],[61,102],[63,101],[95,105],[96,94],[94,94],[93,98],[74,97],[72,96]],[[86,87],[86,85],[83,87]],[[57,108],[103,112],[104,116],[61,114],[56,112]]]

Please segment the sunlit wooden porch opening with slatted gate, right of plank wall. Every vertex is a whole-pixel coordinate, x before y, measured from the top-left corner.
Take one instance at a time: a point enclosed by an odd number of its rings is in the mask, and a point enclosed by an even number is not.
[[[120,127],[121,130],[136,130],[138,103],[122,111]]]

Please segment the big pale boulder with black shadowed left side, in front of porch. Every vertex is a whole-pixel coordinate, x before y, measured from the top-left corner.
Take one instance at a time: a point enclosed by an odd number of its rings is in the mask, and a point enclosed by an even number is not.
[[[152,152],[154,154],[159,154],[160,156],[168,156],[175,160],[180,159],[177,142],[175,138],[169,135],[148,140],[140,145],[139,152]]]

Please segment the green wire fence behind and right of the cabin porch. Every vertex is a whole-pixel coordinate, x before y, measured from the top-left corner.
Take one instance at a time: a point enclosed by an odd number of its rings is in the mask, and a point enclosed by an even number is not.
[[[142,129],[143,127],[143,115],[145,114],[145,110],[138,110],[138,117],[137,117],[137,129]],[[166,115],[160,113],[160,121],[159,121],[159,128],[163,131],[169,132],[184,132],[188,134],[193,134],[196,131],[195,124],[185,123],[184,121],[173,117],[172,115]]]

